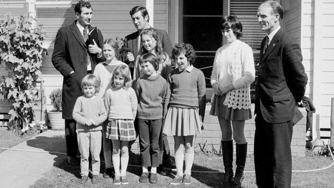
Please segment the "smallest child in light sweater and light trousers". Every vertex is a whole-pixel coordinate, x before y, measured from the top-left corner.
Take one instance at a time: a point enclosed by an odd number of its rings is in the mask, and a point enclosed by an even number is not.
[[[77,121],[78,145],[80,151],[80,183],[88,181],[89,152],[91,154],[92,183],[99,182],[102,126],[107,119],[103,99],[96,96],[100,90],[100,79],[87,74],[81,81],[84,93],[73,108],[73,119]]]

